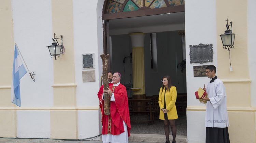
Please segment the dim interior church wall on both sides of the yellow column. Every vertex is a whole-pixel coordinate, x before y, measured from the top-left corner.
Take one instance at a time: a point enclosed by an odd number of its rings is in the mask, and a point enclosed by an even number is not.
[[[113,35],[112,39],[112,65],[111,69],[120,72],[124,77],[123,59],[130,56],[131,42],[129,35]],[[157,41],[157,72],[151,68],[150,34],[146,33],[144,40],[144,63],[145,63],[145,93],[146,96],[158,95],[162,86],[162,77],[170,75],[173,86],[178,93],[186,93],[185,71],[181,73],[177,64],[182,61],[181,36],[177,31],[162,32],[156,34]],[[154,51],[153,51],[154,52]],[[130,58],[125,60],[125,84],[132,84],[132,63]],[[179,80],[179,82],[178,82]],[[121,78],[124,84],[124,78]]]

